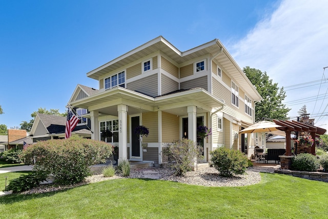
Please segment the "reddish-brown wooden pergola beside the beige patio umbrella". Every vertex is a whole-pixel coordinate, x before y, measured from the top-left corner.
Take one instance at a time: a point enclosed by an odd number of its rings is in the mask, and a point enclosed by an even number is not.
[[[310,132],[313,139],[316,139],[316,135],[324,134],[326,132],[325,129],[306,125],[297,121],[288,121],[288,120],[273,120],[276,125],[282,126],[278,127],[277,129],[284,131],[286,133],[286,156],[292,156],[291,151],[291,132]],[[316,155],[316,144],[315,141],[311,147],[311,154]]]

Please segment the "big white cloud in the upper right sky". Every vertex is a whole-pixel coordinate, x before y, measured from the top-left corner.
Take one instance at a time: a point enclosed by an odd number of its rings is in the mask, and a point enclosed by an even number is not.
[[[246,37],[230,48],[239,66],[267,72],[279,87],[321,79],[328,66],[328,1],[282,1],[277,10],[260,21]],[[327,74],[326,69],[325,74]],[[323,94],[327,85],[286,91],[286,102]],[[328,96],[328,95],[327,95]],[[328,100],[289,106],[296,116],[301,106],[308,113],[324,113]],[[322,105],[321,109],[320,106]],[[314,106],[315,109],[314,109]],[[319,111],[320,109],[320,111]],[[327,113],[325,113],[327,112]],[[328,124],[328,116],[315,117],[317,126]],[[324,126],[321,126],[324,127]],[[324,128],[328,128],[325,126]]]

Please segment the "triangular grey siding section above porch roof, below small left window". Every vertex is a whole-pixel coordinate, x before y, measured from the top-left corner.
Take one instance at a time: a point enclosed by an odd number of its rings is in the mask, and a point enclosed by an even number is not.
[[[141,93],[145,93],[150,96],[158,95],[157,86],[158,86],[157,74],[152,74],[148,77],[144,77],[127,84],[128,89],[139,91]]]

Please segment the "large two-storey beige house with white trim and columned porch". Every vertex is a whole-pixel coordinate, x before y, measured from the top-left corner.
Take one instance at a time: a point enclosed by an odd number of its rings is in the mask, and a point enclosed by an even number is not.
[[[161,164],[162,147],[183,137],[203,146],[204,162],[221,146],[245,151],[238,131],[254,123],[254,103],[261,101],[218,39],[181,52],[159,36],[87,76],[99,89],[77,85],[69,104],[89,111],[92,139],[113,132],[107,142],[119,146],[119,161]],[[142,143],[134,133],[139,125],[150,132]],[[200,125],[213,134],[197,140]]]

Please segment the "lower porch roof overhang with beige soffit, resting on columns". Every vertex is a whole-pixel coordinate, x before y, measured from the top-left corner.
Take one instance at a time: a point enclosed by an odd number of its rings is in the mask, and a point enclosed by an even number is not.
[[[101,114],[116,116],[119,104],[127,105],[129,114],[162,110],[176,115],[186,115],[186,107],[190,105],[195,105],[204,111],[224,105],[222,101],[202,88],[151,97],[126,88],[116,87],[70,103],[73,107],[89,109],[89,111],[97,110]]]

